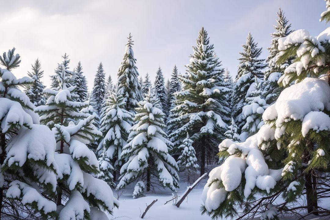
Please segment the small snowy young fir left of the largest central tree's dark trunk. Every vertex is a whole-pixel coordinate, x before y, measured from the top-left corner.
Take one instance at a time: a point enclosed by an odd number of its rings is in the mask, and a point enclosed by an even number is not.
[[[196,152],[192,146],[193,142],[194,141],[189,139],[189,134],[187,132],[187,138],[184,139],[179,146],[179,150],[182,151],[182,154],[179,157],[178,166],[183,169],[196,169],[199,167],[197,164]]]

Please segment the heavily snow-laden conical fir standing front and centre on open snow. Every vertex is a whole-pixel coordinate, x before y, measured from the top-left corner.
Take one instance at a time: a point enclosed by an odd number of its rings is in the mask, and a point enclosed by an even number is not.
[[[173,144],[168,141],[165,127],[165,114],[160,109],[160,101],[155,92],[149,89],[143,101],[136,108],[135,124],[123,147],[122,158],[128,158],[120,169],[117,189],[126,187],[135,180],[147,182],[150,191],[151,181],[158,180],[161,187],[175,190],[178,187],[178,165],[168,153]]]

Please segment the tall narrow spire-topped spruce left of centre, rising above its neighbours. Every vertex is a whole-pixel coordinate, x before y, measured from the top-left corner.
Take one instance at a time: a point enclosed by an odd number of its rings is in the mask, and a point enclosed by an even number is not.
[[[136,59],[133,52],[133,40],[131,33],[129,33],[128,42],[126,44],[123,61],[118,69],[118,93],[124,97],[126,103],[126,110],[134,112],[138,102],[142,100],[141,85],[139,83],[138,68],[136,67]]]

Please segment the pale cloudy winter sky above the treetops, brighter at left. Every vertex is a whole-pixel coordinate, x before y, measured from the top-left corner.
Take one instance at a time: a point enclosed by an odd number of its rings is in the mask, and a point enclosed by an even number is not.
[[[317,36],[328,27],[319,22],[324,0],[0,0],[0,5],[0,53],[16,48],[21,56],[13,71],[17,78],[39,58],[42,81],[49,86],[49,75],[67,53],[70,70],[81,61],[89,90],[100,62],[106,78],[110,74],[116,81],[129,33],[140,76],[148,72],[153,82],[159,66],[165,79],[175,64],[185,71],[202,26],[233,77],[249,31],[263,47],[261,58],[267,57],[279,7],[295,30]]]

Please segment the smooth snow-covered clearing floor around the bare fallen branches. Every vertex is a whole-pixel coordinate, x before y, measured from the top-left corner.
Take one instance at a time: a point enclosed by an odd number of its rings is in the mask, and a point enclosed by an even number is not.
[[[143,219],[148,220],[210,220],[208,215],[201,215],[200,207],[202,204],[201,194],[206,179],[202,180],[192,192],[190,192],[185,201],[178,208],[169,201],[172,199],[172,191],[169,189],[156,189],[155,193],[146,193],[146,197],[133,199],[133,188],[127,187],[123,195],[119,198],[119,209],[114,209],[114,215],[109,215],[109,219],[116,220],[141,220],[140,216],[145,211],[147,204],[153,200],[158,201],[151,206]],[[134,186],[134,185],[133,185]],[[180,188],[177,189],[181,196],[186,190],[187,183],[180,182]],[[114,196],[117,194],[114,192]]]

